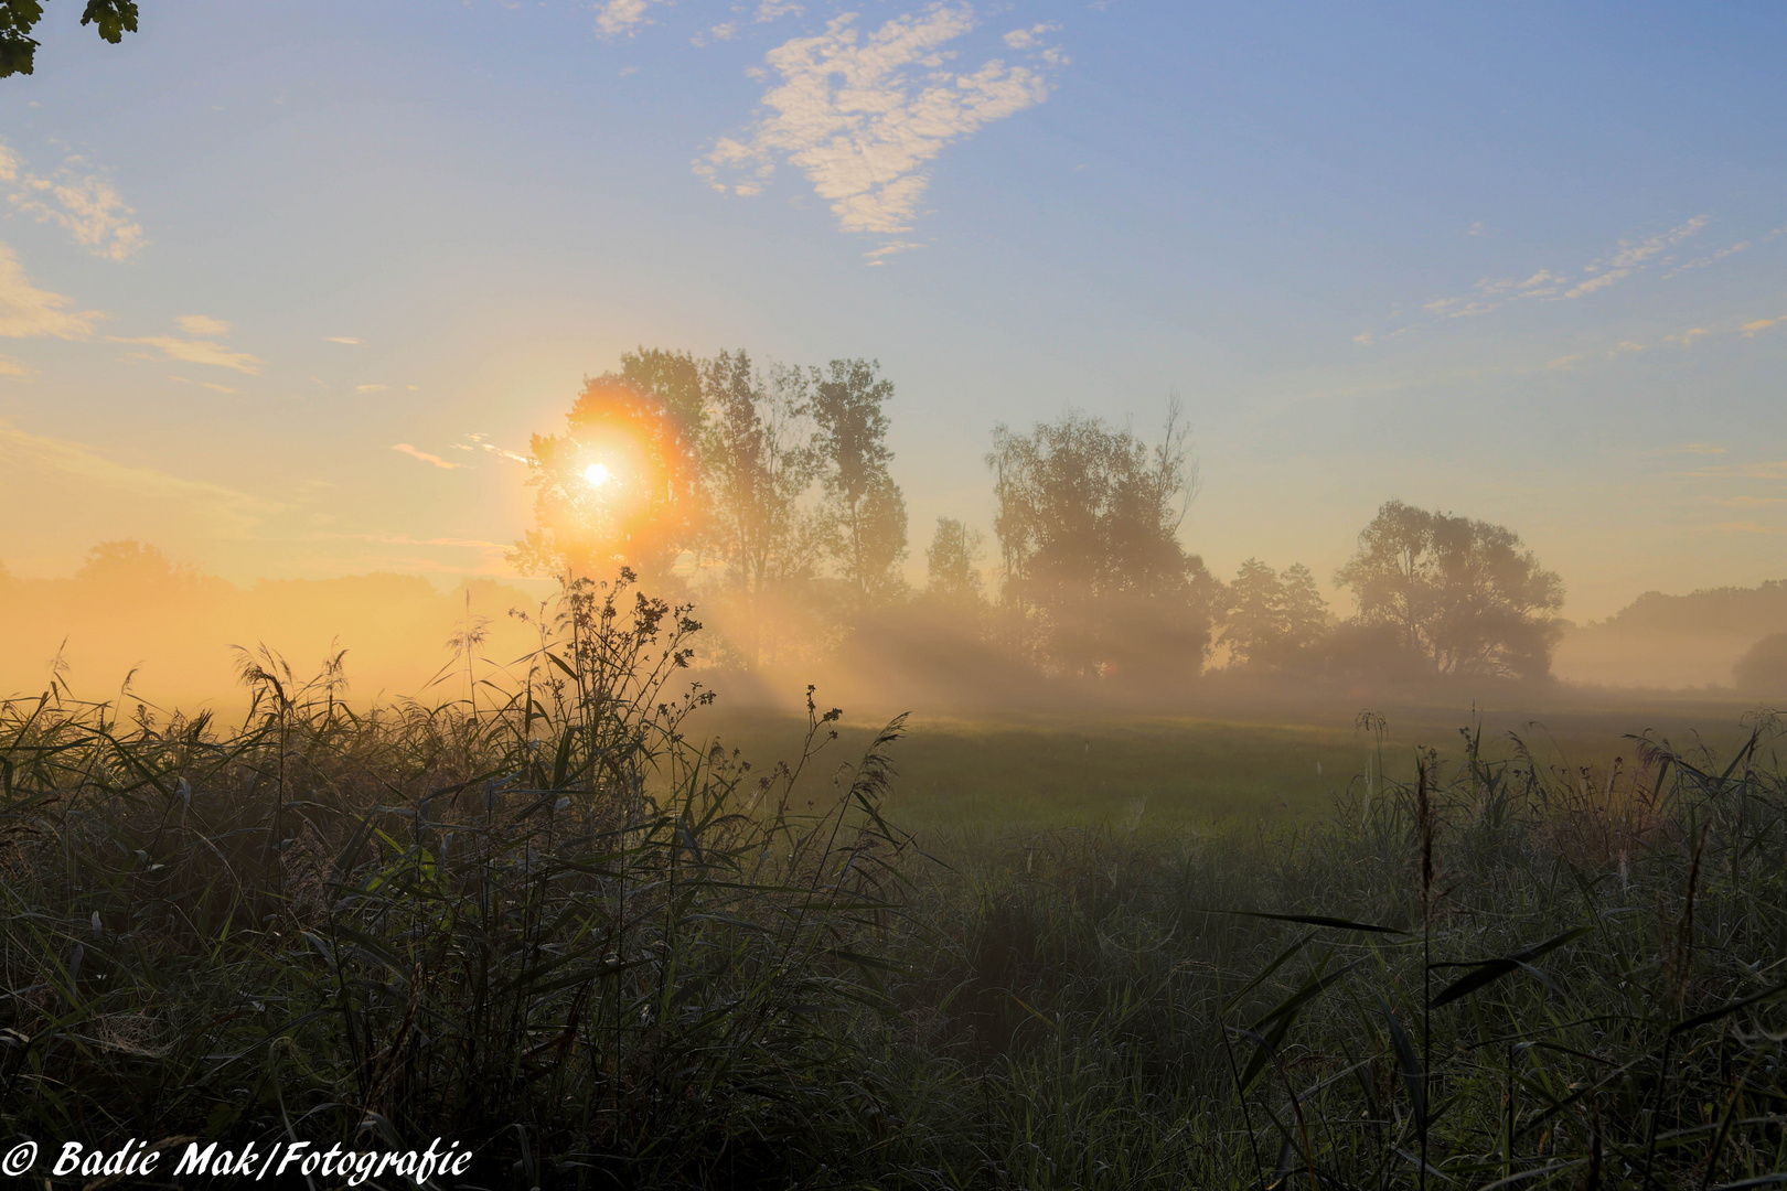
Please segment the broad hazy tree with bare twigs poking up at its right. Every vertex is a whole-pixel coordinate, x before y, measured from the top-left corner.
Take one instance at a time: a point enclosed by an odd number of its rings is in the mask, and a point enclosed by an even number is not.
[[[1154,446],[1069,412],[1031,434],[994,430],[1001,600],[1067,673],[1197,673],[1210,645],[1203,561],[1178,529],[1196,487],[1172,402]]]

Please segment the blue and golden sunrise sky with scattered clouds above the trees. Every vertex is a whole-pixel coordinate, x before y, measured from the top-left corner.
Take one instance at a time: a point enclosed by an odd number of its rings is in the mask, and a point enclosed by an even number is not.
[[[1390,498],[1578,621],[1787,577],[1778,4],[79,7],[0,80],[13,575],[506,575],[645,345],[877,359],[920,580],[997,423],[1174,393],[1222,577]]]

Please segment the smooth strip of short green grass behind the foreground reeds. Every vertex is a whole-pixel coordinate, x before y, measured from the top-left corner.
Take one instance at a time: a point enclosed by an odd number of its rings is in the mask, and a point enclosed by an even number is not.
[[[1410,780],[1414,748],[1456,754],[1464,727],[1481,729],[1490,755],[1512,755],[1515,734],[1540,766],[1594,766],[1607,773],[1615,757],[1633,757],[1626,736],[1646,730],[1678,746],[1703,741],[1730,752],[1742,741],[1753,705],[1392,705],[1381,711],[1388,725],[1381,745],[1356,727],[1358,711],[1292,707],[1276,720],[1265,712],[1233,720],[990,714],[979,721],[915,714],[892,750],[895,777],[886,807],[919,834],[1063,827],[1170,834],[1229,820],[1287,821],[1321,814],[1367,770]],[[863,718],[845,714],[826,757],[836,762],[861,754],[881,723]],[[799,755],[806,732],[804,718],[733,712],[724,705],[690,727],[759,762]]]

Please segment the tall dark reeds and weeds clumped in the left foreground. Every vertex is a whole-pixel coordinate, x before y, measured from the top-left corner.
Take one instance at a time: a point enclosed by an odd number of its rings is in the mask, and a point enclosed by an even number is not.
[[[0,1129],[465,1137],[484,1186],[788,1186],[877,1127],[858,1020],[904,841],[895,723],[758,773],[681,727],[699,625],[572,584],[493,711],[256,705],[123,725],[0,707]],[[399,1146],[407,1148],[407,1146]],[[511,1168],[513,1159],[513,1168]]]

